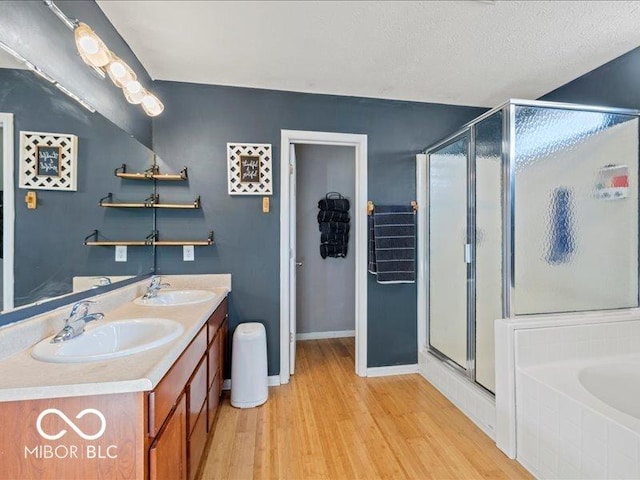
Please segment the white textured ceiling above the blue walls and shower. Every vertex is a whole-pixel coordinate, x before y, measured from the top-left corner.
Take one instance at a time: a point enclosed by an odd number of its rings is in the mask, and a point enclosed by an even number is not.
[[[98,5],[154,79],[484,107],[640,45],[638,1]]]

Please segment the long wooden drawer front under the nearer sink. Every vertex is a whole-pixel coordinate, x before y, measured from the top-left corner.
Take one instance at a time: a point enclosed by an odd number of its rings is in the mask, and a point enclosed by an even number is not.
[[[155,437],[175,405],[207,346],[207,329],[202,328],[158,386],[149,394],[149,435]]]

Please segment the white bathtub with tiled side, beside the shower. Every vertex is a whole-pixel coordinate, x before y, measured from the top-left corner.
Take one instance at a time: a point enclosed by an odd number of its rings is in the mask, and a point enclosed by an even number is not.
[[[516,422],[537,478],[640,478],[640,354],[518,368]]]

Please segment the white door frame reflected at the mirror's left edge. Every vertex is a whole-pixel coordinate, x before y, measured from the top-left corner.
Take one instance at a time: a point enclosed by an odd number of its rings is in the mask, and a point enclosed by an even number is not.
[[[0,113],[2,126],[2,310],[13,309],[15,199],[13,186],[13,113]]]

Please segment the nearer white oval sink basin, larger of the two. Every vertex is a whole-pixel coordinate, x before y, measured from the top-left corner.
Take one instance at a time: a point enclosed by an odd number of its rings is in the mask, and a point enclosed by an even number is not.
[[[132,318],[87,327],[82,335],[61,343],[53,336],[36,344],[31,356],[55,363],[108,360],[144,352],[178,338],[184,327],[166,318]]]

